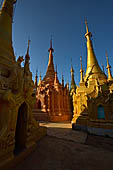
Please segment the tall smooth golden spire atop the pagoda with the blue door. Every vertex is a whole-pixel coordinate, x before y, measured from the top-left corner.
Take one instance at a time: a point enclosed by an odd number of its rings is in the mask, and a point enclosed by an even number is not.
[[[102,72],[101,68],[99,67],[98,61],[96,59],[94,49],[93,49],[93,44],[91,41],[91,32],[89,32],[88,24],[87,21],[85,21],[86,25],[86,34],[85,38],[87,40],[87,70],[85,74],[85,80],[88,78],[92,79],[98,77],[100,74],[101,76],[105,79],[106,76]]]

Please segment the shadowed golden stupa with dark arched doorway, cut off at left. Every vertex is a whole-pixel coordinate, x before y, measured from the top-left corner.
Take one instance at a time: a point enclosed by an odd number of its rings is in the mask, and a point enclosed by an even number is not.
[[[29,41],[24,67],[12,46],[12,18],[16,0],[4,0],[0,10],[0,169],[15,154],[35,146],[46,132],[32,118],[34,83],[29,69]],[[3,168],[4,169],[4,168]]]

